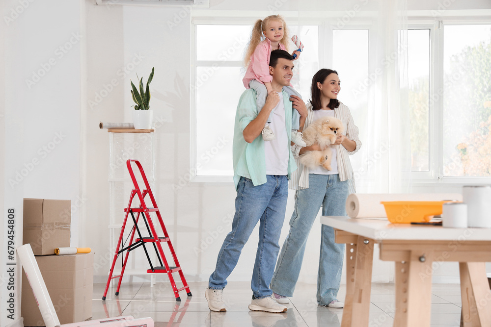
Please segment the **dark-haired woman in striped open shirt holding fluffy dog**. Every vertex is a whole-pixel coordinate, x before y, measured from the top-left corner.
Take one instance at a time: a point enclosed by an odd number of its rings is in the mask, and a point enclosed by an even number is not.
[[[295,194],[295,210],[290,220],[290,232],[281,249],[274,271],[271,289],[276,301],[288,303],[293,296],[299,278],[307,237],[321,208],[324,216],[345,216],[349,183],[353,183],[353,168],[349,154],[361,147],[358,127],[350,109],[337,100],[341,85],[336,71],[321,69],[312,78],[311,96],[307,107],[305,126],[325,116],[336,117],[343,122],[346,135],[339,135],[332,148],[332,170],[323,167],[309,170],[298,162],[298,170],[292,174],[290,188]],[[305,151],[320,150],[318,144],[300,148],[295,145],[295,157]],[[354,190],[354,189],[353,189]],[[321,253],[317,275],[317,303],[342,308],[337,300],[344,258],[344,244],[334,243],[334,229],[322,225]]]

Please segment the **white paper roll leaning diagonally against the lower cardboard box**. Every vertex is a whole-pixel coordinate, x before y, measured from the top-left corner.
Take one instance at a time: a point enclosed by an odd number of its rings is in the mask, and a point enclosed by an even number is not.
[[[53,306],[53,302],[51,302],[50,294],[44,283],[41,271],[39,271],[39,266],[37,265],[34,253],[32,253],[30,244],[25,244],[16,250],[46,327],[59,325],[60,321],[56,315],[55,307]]]

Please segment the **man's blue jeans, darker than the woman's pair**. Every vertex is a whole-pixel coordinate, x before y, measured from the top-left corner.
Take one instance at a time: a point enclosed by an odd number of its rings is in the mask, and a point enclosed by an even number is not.
[[[239,180],[232,231],[227,234],[218,252],[217,266],[208,282],[211,289],[223,289],[227,285],[226,279],[237,265],[242,248],[259,221],[259,244],[250,286],[257,299],[273,294],[269,285],[285,220],[288,178],[266,177],[267,182],[257,186],[248,178],[241,177]]]

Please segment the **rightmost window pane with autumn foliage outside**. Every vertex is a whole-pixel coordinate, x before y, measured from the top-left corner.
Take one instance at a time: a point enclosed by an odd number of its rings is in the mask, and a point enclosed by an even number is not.
[[[491,25],[444,27],[443,176],[491,176]]]

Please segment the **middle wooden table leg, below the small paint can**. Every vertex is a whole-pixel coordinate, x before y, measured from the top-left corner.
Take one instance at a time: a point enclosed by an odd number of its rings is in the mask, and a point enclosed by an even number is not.
[[[411,252],[408,261],[396,262],[394,326],[430,327],[432,258],[432,252]]]

